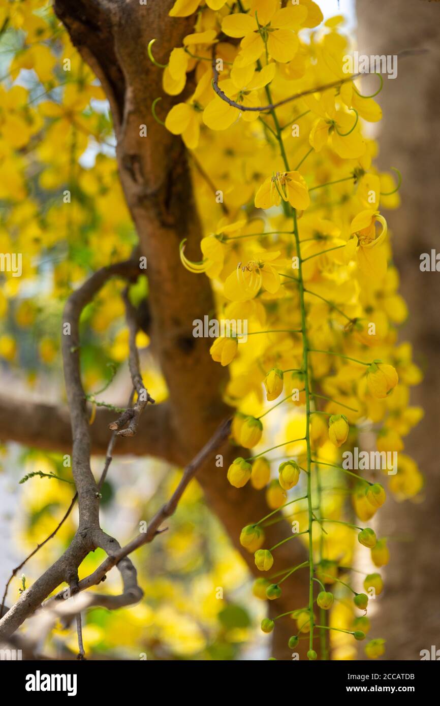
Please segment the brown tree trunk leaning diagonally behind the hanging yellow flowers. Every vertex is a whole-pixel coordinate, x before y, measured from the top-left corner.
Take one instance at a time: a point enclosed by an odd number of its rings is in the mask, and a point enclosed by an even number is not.
[[[121,184],[138,231],[141,253],[148,259],[151,335],[169,390],[164,405],[145,409],[138,436],[121,439],[116,451],[158,455],[183,464],[196,455],[231,410],[221,397],[227,373],[211,361],[209,340],[192,335],[194,319],[213,310],[208,279],[199,277],[195,284],[194,275],[179,261],[182,238],[187,239],[187,253],[193,259],[197,259],[201,239],[186,152],[180,138],[155,123],[150,112],[156,97],[162,96],[164,113],[173,100],[162,93],[161,72],[148,59],[148,42],[157,38],[157,61],[166,63],[171,49],[181,46],[182,38],[194,26],[194,17],[169,18],[171,6],[172,0],[163,0],[153,7],[141,5],[138,0],[54,2],[73,44],[100,78],[112,109]],[[142,138],[139,128],[145,124],[148,137]],[[15,425],[10,421],[11,404],[17,411]],[[0,435],[23,443],[35,442],[44,448],[60,448],[70,443],[69,419],[66,412],[58,413],[56,407],[49,405],[0,400]],[[21,424],[20,415],[21,419],[28,419],[28,425]],[[36,419],[44,419],[47,433],[42,433]],[[97,414],[92,427],[94,451],[102,453],[107,445],[108,421],[112,421],[108,412]],[[266,515],[267,505],[263,493],[248,486],[237,490],[227,483],[226,467],[237,455],[237,449],[224,444],[218,453],[224,455],[223,469],[215,467],[213,457],[199,470],[198,481],[208,505],[255,573],[253,556],[239,545],[239,532],[244,525]],[[268,546],[284,539],[287,533],[284,523],[270,527]],[[277,553],[274,569],[295,566],[303,561],[303,556],[299,542],[284,544]],[[270,602],[270,611],[278,614],[307,604],[308,585],[301,574],[292,577],[288,585],[286,582],[283,597],[275,606]],[[275,631],[274,653],[278,659],[290,659],[290,634],[292,621],[284,618]]]

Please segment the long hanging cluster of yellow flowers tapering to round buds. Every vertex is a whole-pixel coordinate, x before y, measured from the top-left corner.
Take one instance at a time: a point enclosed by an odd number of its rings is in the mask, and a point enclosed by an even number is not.
[[[258,570],[275,569],[276,583],[256,580],[264,600],[277,599],[295,570],[309,571],[310,602],[292,606],[290,647],[306,637],[316,659],[319,635],[321,657],[332,649],[333,658],[352,659],[383,582],[370,573],[357,592],[349,568],[357,549],[371,552],[374,567],[388,562],[386,539],[359,522],[386,501],[384,485],[399,500],[422,488],[416,463],[400,454],[422,411],[409,406],[420,370],[410,345],[396,344],[407,311],[381,214],[398,206],[398,186],[374,166],[377,146],[364,131],[381,108],[343,72],[343,17],[323,22],[313,0],[177,0],[170,15],[196,8],[194,32],[163,71],[166,92],[193,89],[165,126],[203,165],[194,172],[201,261],[182,246],[182,263],[213,280],[219,318],[249,322],[243,345],[222,337],[210,349],[229,367],[232,442],[258,446],[248,457],[240,451],[227,478],[265,492],[270,509],[240,541]],[[381,467],[382,482],[376,469],[343,465],[365,431],[376,457],[398,453],[396,469]],[[309,558],[280,577],[264,527],[281,517],[297,520],[290,539],[304,542]],[[263,632],[275,621],[264,618]],[[369,642],[367,657],[383,654],[383,642]]]

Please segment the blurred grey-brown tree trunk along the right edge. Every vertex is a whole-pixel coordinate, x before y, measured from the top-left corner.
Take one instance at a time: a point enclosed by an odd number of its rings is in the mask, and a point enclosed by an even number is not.
[[[420,659],[420,650],[439,647],[440,611],[438,543],[440,385],[440,274],[420,271],[420,254],[439,252],[440,222],[440,4],[427,0],[357,0],[359,52],[397,54],[426,48],[398,64],[398,78],[385,79],[379,102],[379,165],[403,174],[400,209],[386,213],[401,292],[410,320],[400,340],[411,340],[415,359],[425,371],[412,402],[426,416],[405,446],[426,479],[420,504],[398,504],[391,498],[379,514],[382,535],[405,535],[391,542],[391,562],[383,572],[386,592],[380,597],[375,633],[387,640],[386,659]],[[368,84],[366,84],[368,88]],[[375,90],[375,88],[373,89]]]

